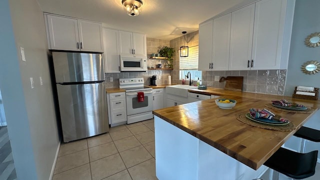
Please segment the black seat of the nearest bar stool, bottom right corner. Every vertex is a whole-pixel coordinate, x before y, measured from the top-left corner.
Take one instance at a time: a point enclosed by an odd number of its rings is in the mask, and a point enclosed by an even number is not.
[[[299,153],[280,147],[264,165],[289,177],[302,179],[314,174],[317,154],[317,150]]]

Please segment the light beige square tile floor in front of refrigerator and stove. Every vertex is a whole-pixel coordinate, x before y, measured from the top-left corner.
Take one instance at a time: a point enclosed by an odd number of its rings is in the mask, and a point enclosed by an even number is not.
[[[154,120],[111,127],[108,133],[62,143],[53,180],[155,177]]]

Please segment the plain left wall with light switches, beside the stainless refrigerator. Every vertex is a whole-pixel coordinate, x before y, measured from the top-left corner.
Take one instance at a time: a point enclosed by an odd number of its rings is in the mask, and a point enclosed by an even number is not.
[[[0,22],[0,88],[17,178],[48,179],[59,137],[43,14],[36,0],[1,0]]]

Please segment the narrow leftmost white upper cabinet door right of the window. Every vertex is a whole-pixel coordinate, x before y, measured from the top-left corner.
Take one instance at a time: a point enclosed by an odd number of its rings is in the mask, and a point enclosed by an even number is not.
[[[198,70],[211,70],[213,20],[199,24]]]

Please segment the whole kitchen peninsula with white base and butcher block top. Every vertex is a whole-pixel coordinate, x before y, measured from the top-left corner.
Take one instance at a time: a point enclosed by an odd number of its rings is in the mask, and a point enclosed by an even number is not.
[[[232,109],[221,109],[214,99],[208,99],[154,110],[158,179],[257,178],[267,169],[262,164],[320,107],[320,100],[288,96],[214,88],[202,93],[237,103]],[[264,104],[270,100],[283,98],[314,109],[311,113],[270,109],[289,119],[296,127],[292,131],[258,128],[236,119],[236,114],[249,108],[267,108]]]

